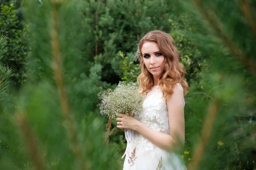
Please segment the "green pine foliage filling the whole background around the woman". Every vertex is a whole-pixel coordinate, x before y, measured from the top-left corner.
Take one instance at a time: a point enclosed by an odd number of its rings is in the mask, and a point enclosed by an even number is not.
[[[1,6],[0,31],[7,37],[3,64],[13,69],[16,85],[29,81],[14,97],[6,96],[8,81],[0,85],[0,98],[5,95],[0,102],[0,169],[35,168],[23,129],[14,121],[16,113],[26,118],[44,168],[79,169],[52,70],[54,6],[51,1],[42,5],[37,0],[23,2],[24,23],[32,23],[29,38],[27,28],[23,29],[18,21],[16,7],[12,3]],[[198,142],[205,139],[201,137],[204,121],[209,120],[210,106],[215,105],[217,115],[210,119],[214,120],[213,129],[210,131],[207,126],[210,138],[204,144],[198,169],[255,169],[256,79],[249,68],[256,62],[255,30],[251,28],[255,12],[253,19],[248,20],[240,1],[205,0],[199,5],[201,1],[194,2],[87,0],[65,1],[58,6],[61,73],[78,147],[88,169],[122,167],[121,155],[126,147],[123,132],[117,130],[116,120],[112,120],[114,131],[107,149],[103,140],[107,119],[99,115],[97,94],[114,88],[121,79],[136,81],[140,70],[132,61],[133,51],[139,39],[154,29],[174,37],[180,61],[186,68],[190,86],[185,97],[186,164],[195,161],[193,154]],[[248,2],[249,9],[255,11],[256,1]],[[32,45],[31,54],[25,40]],[[250,59],[250,65],[241,57]],[[10,70],[0,67],[0,75],[4,74],[10,74]]]

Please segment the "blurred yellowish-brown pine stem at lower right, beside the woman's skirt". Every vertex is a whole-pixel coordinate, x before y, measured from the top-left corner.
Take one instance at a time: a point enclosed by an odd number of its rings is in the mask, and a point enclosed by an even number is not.
[[[192,161],[188,166],[188,170],[196,170],[204,154],[204,150],[207,147],[210,134],[212,133],[213,124],[218,113],[218,107],[218,102],[216,102],[215,100],[213,100],[212,103],[209,105],[208,114],[204,120],[204,124],[202,127],[201,140],[195,149],[195,153],[192,156]]]

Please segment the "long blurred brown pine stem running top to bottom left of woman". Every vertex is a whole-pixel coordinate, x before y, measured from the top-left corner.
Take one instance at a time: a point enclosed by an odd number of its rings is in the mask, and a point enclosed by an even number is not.
[[[80,170],[86,170],[84,164],[82,149],[79,147],[78,134],[75,130],[75,125],[70,113],[70,108],[68,105],[67,94],[65,91],[63,78],[61,74],[61,51],[59,46],[59,14],[58,6],[63,3],[63,0],[52,0],[53,8],[51,11],[52,14],[52,28],[51,28],[51,42],[52,42],[52,54],[53,54],[53,71],[55,82],[60,94],[60,104],[63,112],[64,119],[66,120],[66,130],[71,140],[72,150],[80,164]]]

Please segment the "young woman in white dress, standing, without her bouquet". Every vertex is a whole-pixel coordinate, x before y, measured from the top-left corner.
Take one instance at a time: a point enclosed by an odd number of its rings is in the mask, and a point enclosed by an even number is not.
[[[137,81],[146,95],[140,117],[119,114],[116,119],[118,128],[134,130],[123,170],[186,170],[178,155],[185,140],[183,94],[188,91],[179,52],[163,31],[148,32],[138,50],[142,73]]]

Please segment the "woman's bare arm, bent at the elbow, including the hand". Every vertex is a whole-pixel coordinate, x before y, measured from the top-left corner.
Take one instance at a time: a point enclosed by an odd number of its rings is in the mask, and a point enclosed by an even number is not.
[[[119,126],[117,127],[136,130],[157,147],[180,154],[180,152],[183,150],[185,140],[182,93],[181,88],[176,86],[172,96],[166,99],[169,114],[170,135],[152,130],[136,119],[124,115],[119,115],[121,118],[116,119],[120,121],[118,123]]]

